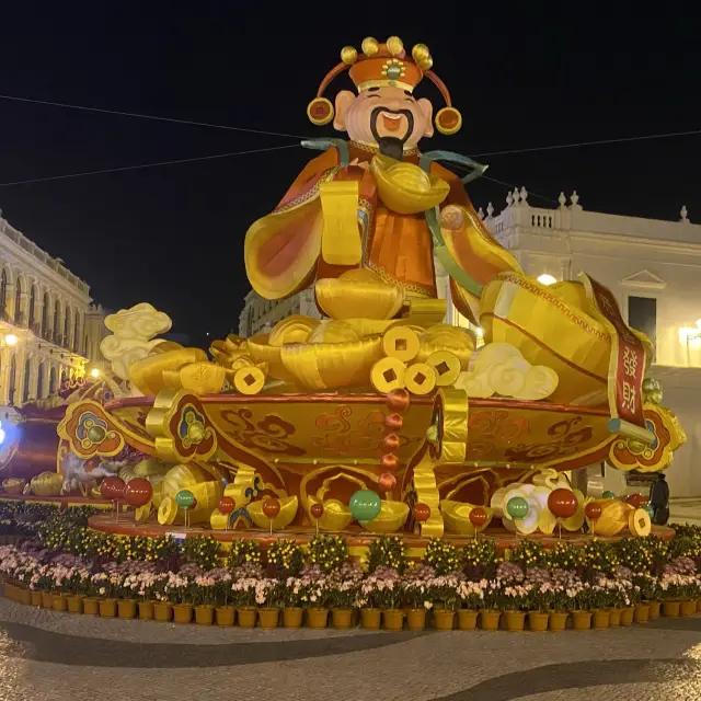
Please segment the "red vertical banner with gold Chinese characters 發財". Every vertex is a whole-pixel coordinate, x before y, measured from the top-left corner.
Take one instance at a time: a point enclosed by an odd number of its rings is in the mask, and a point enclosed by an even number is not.
[[[611,290],[584,273],[582,273],[582,278],[589,299],[599,312],[599,321],[611,335],[611,359],[609,363],[611,417],[645,428],[643,414],[645,346],[623,321],[621,310]]]

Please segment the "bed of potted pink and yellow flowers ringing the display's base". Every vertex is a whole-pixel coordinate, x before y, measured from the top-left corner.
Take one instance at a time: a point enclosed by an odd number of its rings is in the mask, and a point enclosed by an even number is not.
[[[240,540],[226,566],[217,566],[211,539],[92,540],[84,518],[84,509],[66,509],[36,538],[0,547],[5,596],[58,610],[205,625],[296,628],[306,618],[317,628],[361,620],[369,629],[383,622],[388,630],[470,630],[480,621],[494,630],[501,621],[533,631],[563,630],[567,621],[577,629],[643,622],[659,602],[670,616],[689,614],[701,599],[701,530],[692,528],[668,543],[591,539],[547,550],[526,539],[507,560],[486,539],[461,549],[432,541],[421,564],[407,561],[401,539],[382,537],[364,571],[340,536],[317,536],[306,550],[280,539],[267,553]]]

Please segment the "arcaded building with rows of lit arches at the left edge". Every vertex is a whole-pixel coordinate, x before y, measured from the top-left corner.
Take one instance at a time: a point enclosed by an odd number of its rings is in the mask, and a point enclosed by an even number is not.
[[[46,398],[99,364],[103,317],[87,283],[0,217],[0,405]]]

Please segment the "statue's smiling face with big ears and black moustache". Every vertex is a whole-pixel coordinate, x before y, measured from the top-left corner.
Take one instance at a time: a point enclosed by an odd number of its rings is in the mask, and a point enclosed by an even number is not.
[[[363,143],[409,149],[434,134],[430,102],[401,88],[370,88],[357,96],[345,90],[335,111],[334,127]]]

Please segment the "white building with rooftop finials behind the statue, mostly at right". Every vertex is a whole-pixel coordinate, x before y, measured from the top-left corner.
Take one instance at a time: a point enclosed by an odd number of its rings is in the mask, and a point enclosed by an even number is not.
[[[586,271],[613,291],[628,323],[650,336],[650,375],[662,380],[665,405],[688,435],[668,473],[670,490],[676,496],[701,495],[701,226],[691,223],[686,208],[677,221],[587,211],[576,192],[568,200],[561,194],[558,207],[533,207],[525,188],[509,193],[501,212],[490,203],[480,216],[528,275],[554,284]],[[449,301],[446,323],[470,326],[450,303],[448,277],[437,261],[436,276],[439,296]],[[251,292],[240,333],[269,330],[290,313],[319,315],[310,290],[281,302]],[[624,486],[621,473],[609,470],[601,479],[617,493]]]

